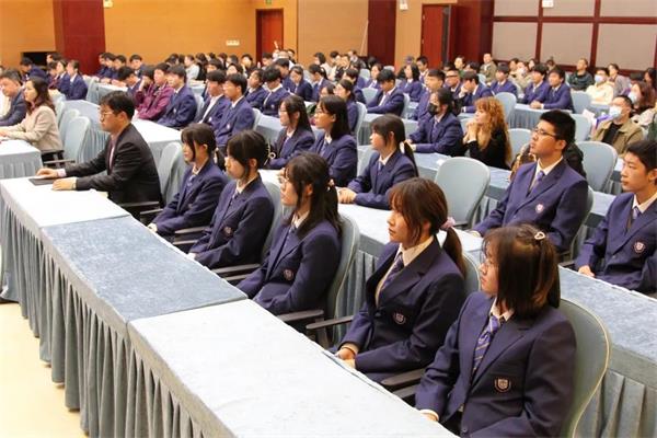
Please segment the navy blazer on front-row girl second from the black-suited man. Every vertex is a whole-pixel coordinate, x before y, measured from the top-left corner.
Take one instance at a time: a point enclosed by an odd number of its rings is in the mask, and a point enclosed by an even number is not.
[[[235,196],[237,185],[231,181],[223,188],[210,226],[189,250],[209,268],[261,262],[274,204],[260,176]]]

